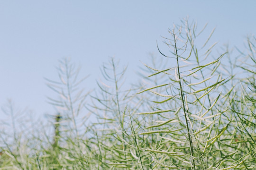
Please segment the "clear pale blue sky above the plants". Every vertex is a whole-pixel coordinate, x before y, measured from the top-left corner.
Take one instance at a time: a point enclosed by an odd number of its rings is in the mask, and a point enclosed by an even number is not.
[[[140,61],[159,54],[156,41],[187,16],[216,27],[220,45],[240,47],[256,34],[255,7],[255,0],[0,0],[0,106],[12,99],[37,116],[52,112],[44,77],[56,79],[64,57],[90,75],[88,89],[113,56],[132,80]]]

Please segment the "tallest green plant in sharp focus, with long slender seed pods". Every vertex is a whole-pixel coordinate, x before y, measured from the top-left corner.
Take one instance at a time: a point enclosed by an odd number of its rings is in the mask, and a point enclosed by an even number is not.
[[[255,137],[253,135],[255,133],[255,123],[253,123],[255,116],[250,115],[250,120],[247,120],[250,122],[247,123],[247,128],[251,128],[250,132],[245,133],[244,131],[247,129],[243,126],[245,119],[241,119],[230,109],[234,102],[229,102],[229,99],[234,97],[232,96],[234,94],[225,88],[229,86],[232,90],[235,87],[235,85],[229,84],[235,77],[228,75],[223,78],[222,74],[217,71],[220,68],[221,59],[225,58],[228,52],[224,51],[210,60],[209,56],[216,45],[216,43],[208,45],[213,32],[205,43],[198,47],[197,38],[203,30],[199,32],[196,30],[196,23],[189,24],[188,20],[184,20],[182,26],[174,26],[174,29],[169,30],[171,37],[165,38],[165,44],[172,49],[172,55],[167,56],[161,51],[160,53],[170,60],[173,59],[174,66],[158,69],[146,65],[147,68],[155,71],[148,77],[163,74],[169,79],[163,84],[138,92],[154,93],[160,97],[158,101],[154,101],[159,105],[152,111],[137,114],[145,116],[157,114],[162,117],[154,120],[155,125],[146,127],[145,132],[138,134],[146,136],[154,134],[154,138],[160,138],[162,144],[142,149],[148,154],[152,154],[155,160],[154,168],[158,169],[164,167],[192,170],[253,169],[255,168],[253,163],[255,161],[255,150],[253,149],[255,143],[252,136]],[[253,46],[252,43],[248,44],[249,47]],[[253,55],[249,57],[255,61]],[[239,67],[255,75],[254,71]],[[248,101],[239,100],[239,102],[246,104]],[[255,111],[255,105],[250,107],[250,111],[251,113]],[[250,138],[250,141],[244,141],[247,143],[246,151],[241,145],[235,147],[232,145],[231,139],[236,136],[237,131],[234,129],[237,128],[237,123],[243,127],[243,132],[240,131],[240,133],[247,134]],[[240,126],[238,125],[238,127]],[[229,144],[226,144],[227,141]],[[234,157],[235,159],[232,160]]]

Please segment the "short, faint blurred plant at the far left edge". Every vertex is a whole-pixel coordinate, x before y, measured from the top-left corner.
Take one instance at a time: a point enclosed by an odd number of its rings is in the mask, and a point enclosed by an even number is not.
[[[6,125],[0,133],[0,167],[8,165],[8,162],[13,162],[13,166],[20,170],[27,170],[28,155],[30,148],[27,146],[29,140],[29,128],[24,123],[27,109],[19,110],[11,99],[1,107],[2,112],[7,116],[6,120],[2,121]],[[24,132],[25,131],[25,132]],[[8,161],[6,161],[8,160]]]

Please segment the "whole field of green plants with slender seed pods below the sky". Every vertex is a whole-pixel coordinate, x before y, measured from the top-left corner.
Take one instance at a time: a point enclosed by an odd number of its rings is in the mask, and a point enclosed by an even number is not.
[[[87,92],[86,77],[60,60],[59,80],[46,79],[56,94],[51,126],[22,124],[26,110],[11,101],[2,108],[11,121],[0,133],[0,170],[255,170],[256,37],[230,50],[204,29],[188,20],[170,29],[169,54],[157,46],[162,58],[144,64],[131,88],[113,58]]]

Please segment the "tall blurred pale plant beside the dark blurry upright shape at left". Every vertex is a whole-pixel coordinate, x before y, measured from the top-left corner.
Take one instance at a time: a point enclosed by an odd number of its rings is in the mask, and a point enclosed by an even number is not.
[[[64,58],[59,63],[57,68],[59,81],[46,78],[47,86],[57,94],[56,98],[47,97],[49,103],[57,110],[57,114],[54,116],[53,147],[55,150],[54,153],[50,153],[54,154],[54,161],[61,162],[61,154],[67,154],[69,155],[67,156],[68,160],[72,160],[73,157],[80,158],[81,160],[78,162],[84,166],[82,161],[83,139],[79,131],[83,130],[82,133],[84,133],[86,131],[84,129],[87,128],[84,126],[84,122],[88,119],[88,115],[80,114],[83,111],[85,99],[90,93],[90,91],[85,93],[84,88],[82,88],[82,83],[88,76],[79,79],[80,68],[76,68],[70,59]],[[64,153],[59,152],[62,150]]]

